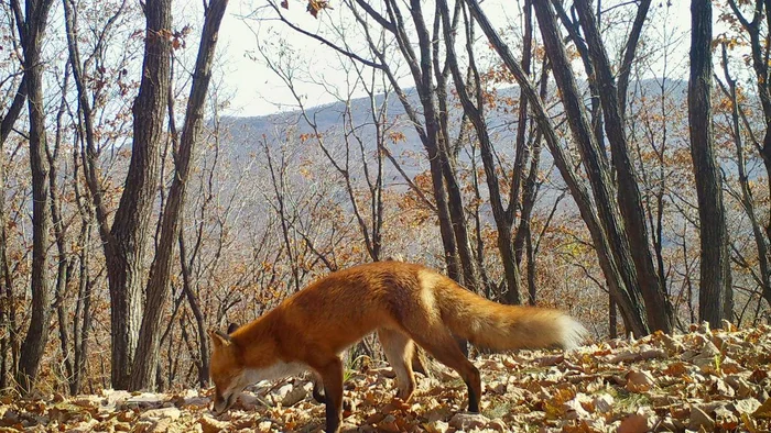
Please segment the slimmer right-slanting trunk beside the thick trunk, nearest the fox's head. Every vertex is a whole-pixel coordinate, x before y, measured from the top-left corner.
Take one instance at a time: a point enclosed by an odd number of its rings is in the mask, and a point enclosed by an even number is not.
[[[178,238],[180,215],[185,200],[191,159],[195,145],[200,140],[204,104],[211,79],[211,64],[217,46],[219,24],[225,15],[227,4],[228,0],[211,0],[205,11],[206,19],[193,74],[191,96],[187,100],[185,124],[182,130],[180,148],[174,158],[176,164],[174,180],[163,211],[161,241],[150,271],[144,317],[142,318],[139,344],[131,371],[130,387],[132,390],[150,389],[153,386],[154,370],[159,362],[161,313],[165,308],[169,295],[169,278],[174,258],[174,244]]]

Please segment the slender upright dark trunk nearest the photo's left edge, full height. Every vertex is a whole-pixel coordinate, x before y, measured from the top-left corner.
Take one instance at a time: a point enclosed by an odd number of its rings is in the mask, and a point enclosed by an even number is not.
[[[22,35],[24,75],[30,110],[30,168],[32,170],[32,315],[30,329],[21,346],[17,382],[22,392],[32,390],[37,368],[48,340],[51,322],[51,287],[48,285],[47,248],[51,214],[48,212],[48,162],[45,157],[45,107],[43,99],[43,30],[52,0],[28,0],[25,32]]]

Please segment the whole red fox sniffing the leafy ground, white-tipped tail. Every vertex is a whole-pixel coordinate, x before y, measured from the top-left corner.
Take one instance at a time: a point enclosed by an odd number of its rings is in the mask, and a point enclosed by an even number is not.
[[[313,370],[324,386],[326,431],[343,414],[339,354],[377,331],[397,375],[398,397],[415,389],[414,344],[455,369],[468,387],[468,410],[479,412],[479,370],[455,337],[493,351],[579,345],[586,330],[550,309],[503,306],[420,265],[378,262],[316,280],[231,334],[209,331],[214,411],[225,412],[249,385]],[[321,393],[314,389],[314,397]]]

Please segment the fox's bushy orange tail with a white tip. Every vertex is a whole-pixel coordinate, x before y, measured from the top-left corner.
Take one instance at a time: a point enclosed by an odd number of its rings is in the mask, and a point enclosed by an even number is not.
[[[452,280],[437,288],[444,322],[457,336],[493,351],[562,347],[572,349],[586,329],[558,310],[503,306],[473,293]]]

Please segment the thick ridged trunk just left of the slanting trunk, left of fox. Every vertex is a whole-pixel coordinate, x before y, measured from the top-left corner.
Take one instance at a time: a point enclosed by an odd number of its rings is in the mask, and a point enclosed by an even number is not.
[[[133,104],[133,144],[126,189],[106,245],[110,289],[112,386],[130,387],[139,335],[145,245],[159,176],[170,86],[171,0],[144,5],[146,32],[139,96]]]

